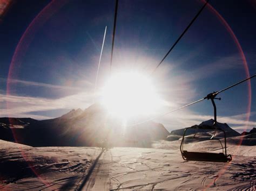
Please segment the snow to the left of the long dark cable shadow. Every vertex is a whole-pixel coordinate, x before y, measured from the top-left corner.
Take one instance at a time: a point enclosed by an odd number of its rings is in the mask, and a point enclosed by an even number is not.
[[[0,189],[76,189],[100,153],[95,147],[30,147],[0,141]]]

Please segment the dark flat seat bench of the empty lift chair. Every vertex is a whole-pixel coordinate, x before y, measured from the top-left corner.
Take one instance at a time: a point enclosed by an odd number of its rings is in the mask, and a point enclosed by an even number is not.
[[[230,154],[226,156],[224,153],[183,151],[181,154],[184,160],[212,161],[212,162],[230,162],[232,160],[232,157]]]

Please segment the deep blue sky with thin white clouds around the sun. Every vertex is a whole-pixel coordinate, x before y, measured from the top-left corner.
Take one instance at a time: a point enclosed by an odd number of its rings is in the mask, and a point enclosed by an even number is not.
[[[256,74],[255,0],[210,0],[152,74],[203,4],[119,0],[111,71],[150,76],[164,103],[143,119]],[[48,119],[97,102],[95,79],[105,26],[97,89],[110,75],[114,5],[112,0],[23,0],[0,10],[0,117]],[[219,122],[240,132],[256,127],[256,78],[218,97]],[[203,101],[154,121],[170,131],[210,118],[212,104]]]

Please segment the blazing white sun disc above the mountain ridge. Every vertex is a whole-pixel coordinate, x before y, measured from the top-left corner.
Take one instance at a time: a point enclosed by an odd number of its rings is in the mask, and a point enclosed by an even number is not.
[[[137,72],[112,75],[102,90],[102,104],[122,119],[153,114],[159,102],[151,80]]]

